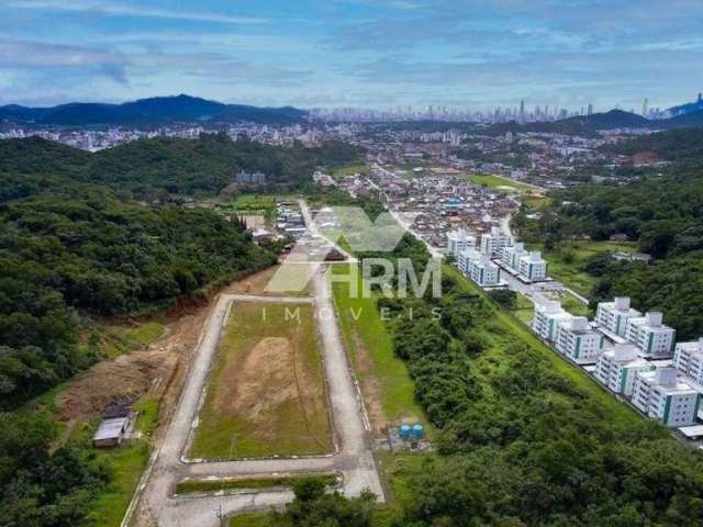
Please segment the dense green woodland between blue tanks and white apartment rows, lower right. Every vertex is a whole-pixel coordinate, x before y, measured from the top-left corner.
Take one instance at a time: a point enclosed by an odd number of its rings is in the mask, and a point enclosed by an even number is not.
[[[414,239],[394,256],[427,261]],[[405,498],[382,515],[369,515],[364,498],[299,490],[266,525],[703,526],[700,455],[562,362],[466,279],[446,268],[442,298],[379,298],[378,309],[390,310],[394,352],[438,430],[437,452],[392,476]]]

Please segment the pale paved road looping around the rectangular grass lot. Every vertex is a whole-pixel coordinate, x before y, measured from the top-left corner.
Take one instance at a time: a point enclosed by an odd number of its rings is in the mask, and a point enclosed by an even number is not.
[[[178,408],[164,441],[155,451],[141,486],[141,525],[216,527],[213,513],[224,515],[280,506],[292,498],[290,492],[261,492],[249,495],[174,498],[170,492],[183,478],[226,478],[272,473],[341,472],[348,496],[365,489],[383,501],[383,491],[372,452],[372,441],[362,412],[362,403],[352,378],[332,301],[328,276],[321,269],[313,278],[314,299],[221,295],[208,318],[197,358],[186,381]],[[214,359],[220,330],[232,302],[313,302],[324,351],[328,397],[332,406],[338,451],[334,456],[298,459],[271,459],[228,462],[193,462],[185,458],[189,437],[197,423],[199,404]],[[135,502],[136,503],[136,502]]]

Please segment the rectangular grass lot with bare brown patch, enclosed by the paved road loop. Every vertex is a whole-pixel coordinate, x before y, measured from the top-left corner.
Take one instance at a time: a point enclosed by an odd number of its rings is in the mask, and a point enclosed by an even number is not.
[[[223,329],[190,456],[333,450],[311,304],[236,303]],[[292,314],[299,314],[295,318]]]

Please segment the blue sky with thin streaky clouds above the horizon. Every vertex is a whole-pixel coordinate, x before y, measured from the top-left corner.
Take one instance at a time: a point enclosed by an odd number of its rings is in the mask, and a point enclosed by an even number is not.
[[[668,106],[702,0],[0,0],[0,104]]]

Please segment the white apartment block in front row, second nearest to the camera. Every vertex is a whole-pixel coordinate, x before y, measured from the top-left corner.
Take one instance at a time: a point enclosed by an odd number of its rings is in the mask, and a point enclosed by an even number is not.
[[[598,358],[595,378],[615,393],[632,395],[635,374],[654,368],[638,357],[638,352],[634,344],[616,344],[614,348],[605,349]]]

